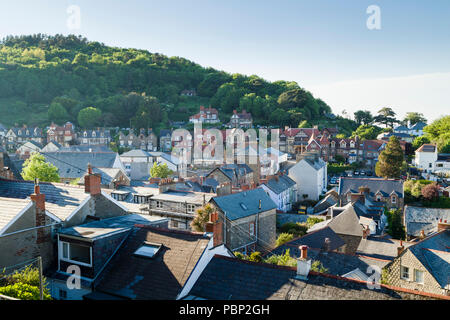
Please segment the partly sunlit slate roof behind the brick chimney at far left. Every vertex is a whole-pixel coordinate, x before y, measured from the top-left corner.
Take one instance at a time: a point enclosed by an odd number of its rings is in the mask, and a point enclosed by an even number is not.
[[[45,194],[45,208],[63,221],[89,197],[84,187],[44,182],[39,185]],[[0,197],[27,199],[33,193],[34,182],[0,179]]]

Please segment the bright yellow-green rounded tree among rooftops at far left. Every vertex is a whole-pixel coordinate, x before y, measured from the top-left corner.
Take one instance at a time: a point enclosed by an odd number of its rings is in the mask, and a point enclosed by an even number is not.
[[[45,162],[45,157],[37,152],[31,154],[25,160],[22,169],[24,180],[39,179],[43,182],[59,182],[58,168],[49,162]]]

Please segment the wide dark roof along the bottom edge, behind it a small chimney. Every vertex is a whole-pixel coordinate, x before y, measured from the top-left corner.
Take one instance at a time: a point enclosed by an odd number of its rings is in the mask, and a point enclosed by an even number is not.
[[[382,286],[370,290],[366,283],[310,272],[296,279],[291,267],[243,261],[215,255],[189,296],[211,300],[385,300],[426,299]]]

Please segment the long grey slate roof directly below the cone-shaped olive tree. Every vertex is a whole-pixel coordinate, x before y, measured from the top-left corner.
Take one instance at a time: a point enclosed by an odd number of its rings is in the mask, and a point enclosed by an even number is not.
[[[370,197],[375,197],[375,194],[380,191],[384,196],[395,192],[399,198],[403,198],[403,181],[396,179],[383,178],[339,178],[339,195],[345,195],[347,192],[358,193],[359,187],[368,187],[370,189]]]

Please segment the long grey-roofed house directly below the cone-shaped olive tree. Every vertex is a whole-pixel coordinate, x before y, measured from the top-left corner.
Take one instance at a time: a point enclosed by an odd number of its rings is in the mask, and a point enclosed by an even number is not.
[[[341,206],[352,201],[352,194],[364,193],[371,202],[382,202],[388,208],[403,209],[403,181],[383,178],[339,178]]]

